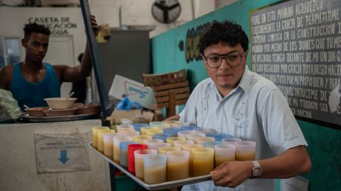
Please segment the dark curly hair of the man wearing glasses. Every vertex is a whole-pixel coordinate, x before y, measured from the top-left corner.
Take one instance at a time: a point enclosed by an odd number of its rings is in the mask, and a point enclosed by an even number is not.
[[[213,21],[210,28],[203,33],[199,40],[199,51],[203,55],[204,50],[210,45],[215,45],[219,42],[224,42],[231,47],[242,45],[243,50],[249,49],[249,39],[242,29],[234,21]]]

